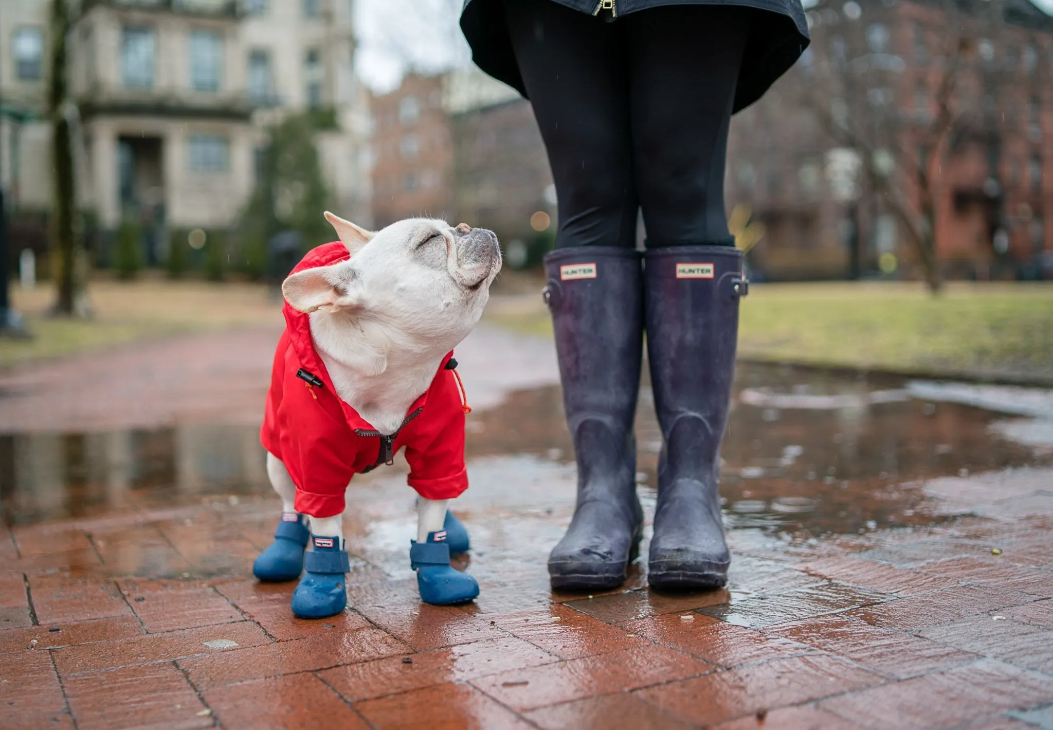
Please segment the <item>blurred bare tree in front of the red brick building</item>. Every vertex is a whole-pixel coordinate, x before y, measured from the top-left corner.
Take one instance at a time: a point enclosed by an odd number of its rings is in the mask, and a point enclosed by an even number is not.
[[[1021,84],[1040,87],[1036,59],[1049,43],[1014,13],[1027,15],[1014,0],[823,0],[809,12],[801,100],[857,156],[861,188],[899,222],[933,293],[943,283],[940,201],[956,193],[951,164],[970,144],[988,160],[978,197],[989,240],[994,253],[1008,245],[999,153],[1016,120],[1005,108],[1027,97]]]

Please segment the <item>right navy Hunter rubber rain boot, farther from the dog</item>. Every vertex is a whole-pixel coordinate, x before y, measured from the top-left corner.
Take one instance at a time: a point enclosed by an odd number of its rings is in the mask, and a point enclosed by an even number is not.
[[[717,489],[738,334],[748,282],[731,245],[654,249],[644,255],[648,363],[664,445],[649,581],[712,589],[727,583]]]

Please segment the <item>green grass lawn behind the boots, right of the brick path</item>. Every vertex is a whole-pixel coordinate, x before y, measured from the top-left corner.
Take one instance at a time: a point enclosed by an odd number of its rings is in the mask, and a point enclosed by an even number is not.
[[[513,329],[551,332],[540,297],[488,312]],[[928,375],[1053,383],[1053,284],[788,283],[750,290],[739,356]]]

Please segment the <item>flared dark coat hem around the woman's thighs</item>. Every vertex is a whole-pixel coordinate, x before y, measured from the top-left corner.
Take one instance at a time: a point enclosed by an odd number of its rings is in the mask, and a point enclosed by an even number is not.
[[[599,0],[553,0],[592,15]],[[800,0],[616,0],[618,16],[659,5],[740,5],[763,11],[754,14],[742,67],[738,75],[734,112],[763,96],[809,44],[808,23]],[[602,11],[607,14],[609,11]],[[512,52],[502,0],[465,0],[461,29],[472,46],[472,60],[484,72],[509,84],[523,97],[522,77]]]

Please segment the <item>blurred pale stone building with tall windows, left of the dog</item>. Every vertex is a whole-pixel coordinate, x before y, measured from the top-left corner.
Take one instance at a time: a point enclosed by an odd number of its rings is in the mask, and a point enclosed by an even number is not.
[[[49,13],[51,0],[0,13],[0,175],[16,210],[51,202]],[[351,13],[347,0],[81,0],[68,37],[79,206],[103,229],[128,213],[147,228],[230,226],[266,125],[317,110],[333,120],[317,140],[333,204],[367,219]]]

